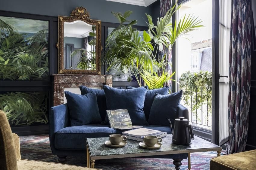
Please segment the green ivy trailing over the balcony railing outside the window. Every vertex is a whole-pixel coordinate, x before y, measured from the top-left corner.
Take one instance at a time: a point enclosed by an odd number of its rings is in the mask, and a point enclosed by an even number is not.
[[[211,116],[211,91],[212,91],[212,74],[209,71],[190,72],[186,71],[180,76],[180,89],[183,90],[182,99],[192,113],[202,105],[208,104],[208,115]],[[196,100],[197,93],[197,100]],[[192,100],[192,103],[191,103]],[[196,105],[197,102],[197,105]],[[207,118],[207,117],[205,117]],[[207,119],[205,119],[207,120]]]

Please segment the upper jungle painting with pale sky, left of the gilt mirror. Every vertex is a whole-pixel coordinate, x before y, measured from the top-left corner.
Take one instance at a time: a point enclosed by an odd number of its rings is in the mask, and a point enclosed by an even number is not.
[[[0,80],[46,80],[49,22],[0,16]]]

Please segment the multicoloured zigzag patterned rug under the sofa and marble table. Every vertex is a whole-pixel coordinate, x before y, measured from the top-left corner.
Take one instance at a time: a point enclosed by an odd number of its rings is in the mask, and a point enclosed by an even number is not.
[[[45,162],[58,162],[57,156],[52,155],[48,135],[20,136],[21,158]],[[222,155],[224,154],[222,151]],[[210,160],[217,152],[191,153],[191,169],[209,169]],[[85,157],[67,157],[66,164],[86,167]],[[188,169],[188,159],[182,161],[180,169]],[[96,160],[95,168],[104,170],[164,170],[175,169],[172,159],[122,158]]]

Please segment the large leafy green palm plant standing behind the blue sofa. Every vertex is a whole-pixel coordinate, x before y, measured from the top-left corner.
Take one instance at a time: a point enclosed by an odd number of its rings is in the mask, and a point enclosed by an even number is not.
[[[143,38],[132,26],[136,20],[126,20],[132,11],[114,13],[120,25],[114,29],[106,40],[106,51],[103,61],[107,63],[109,71],[111,68],[127,68],[130,77],[135,78],[139,86],[148,85],[149,89],[160,88],[164,83],[171,80],[173,73],[166,71],[170,65],[168,62],[171,49],[175,41],[181,36],[203,27],[198,18],[186,15],[180,19],[173,27],[172,16],[181,7],[175,4],[164,17],[158,18],[157,25],[152,22],[152,17],[148,18],[148,30],[143,32]],[[127,25],[124,23],[129,22]],[[163,58],[157,57],[157,51],[162,51],[163,47],[168,49],[168,53]]]

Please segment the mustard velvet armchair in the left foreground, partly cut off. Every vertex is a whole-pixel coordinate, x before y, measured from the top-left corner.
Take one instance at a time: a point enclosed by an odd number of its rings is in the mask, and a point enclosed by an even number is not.
[[[11,132],[10,124],[3,111],[0,110],[0,169],[1,170],[90,170],[74,165],[21,159],[20,138]]]

